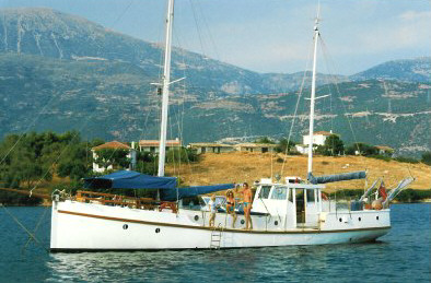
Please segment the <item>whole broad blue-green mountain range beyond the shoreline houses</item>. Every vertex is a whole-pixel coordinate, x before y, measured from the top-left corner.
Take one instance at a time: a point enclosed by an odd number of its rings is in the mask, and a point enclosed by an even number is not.
[[[54,10],[0,10],[1,135],[77,129],[107,140],[156,138],[160,97],[150,83],[159,80],[161,55],[155,44]],[[174,48],[172,78],[187,80],[172,85],[170,138],[287,135],[303,75],[260,74]],[[331,95],[317,102],[317,130],[399,152],[430,149],[429,82],[337,75],[333,85],[330,76],[318,75],[319,95]],[[296,141],[307,127],[308,85]]]

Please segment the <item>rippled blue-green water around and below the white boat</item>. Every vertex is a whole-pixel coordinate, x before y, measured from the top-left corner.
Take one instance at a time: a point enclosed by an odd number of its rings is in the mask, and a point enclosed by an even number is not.
[[[373,244],[96,253],[47,252],[50,208],[8,208],[40,244],[0,208],[0,282],[430,282],[430,208],[393,205]]]

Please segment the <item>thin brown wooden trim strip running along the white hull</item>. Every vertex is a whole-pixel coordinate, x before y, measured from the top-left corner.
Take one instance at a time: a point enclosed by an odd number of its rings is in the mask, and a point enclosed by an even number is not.
[[[161,223],[161,222],[151,222],[151,221],[141,221],[141,220],[128,220],[128,219],[119,219],[119,217],[110,217],[110,216],[102,216],[94,214],[86,214],[81,212],[73,211],[65,211],[58,210],[58,213],[65,213],[70,215],[91,217],[91,219],[100,219],[100,220],[109,220],[109,221],[118,221],[118,222],[128,222],[128,223],[137,223],[137,224],[145,224],[153,226],[165,226],[165,227],[178,227],[178,228],[190,228],[190,229],[207,229],[214,231],[218,228],[214,227],[203,227],[203,226],[193,226],[193,225],[183,225],[183,224],[172,224],[172,223]],[[349,232],[361,232],[361,231],[380,231],[380,229],[391,229],[391,226],[383,227],[370,227],[370,228],[357,228],[357,229],[331,229],[331,231],[322,231],[322,229],[298,229],[298,231],[246,231],[246,229],[232,229],[232,228],[223,228],[223,232],[232,232],[232,233],[249,233],[249,234],[322,234],[322,233],[349,233]]]

